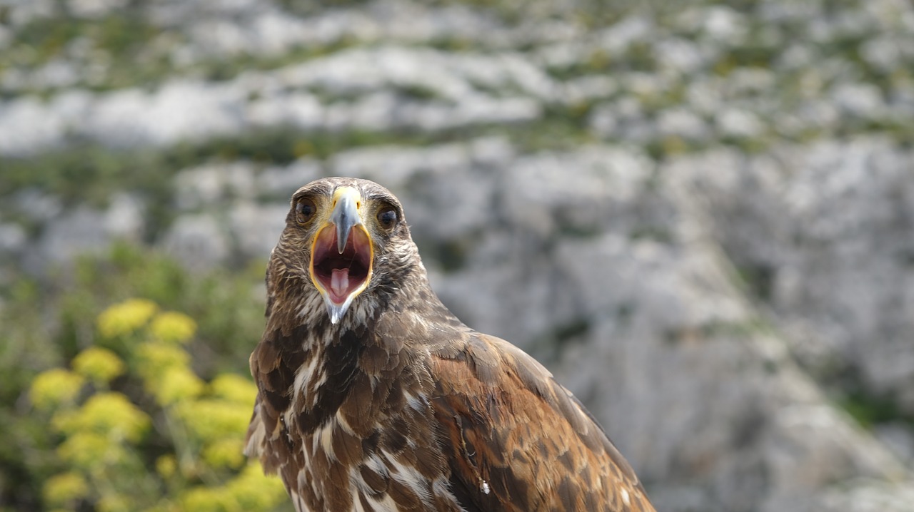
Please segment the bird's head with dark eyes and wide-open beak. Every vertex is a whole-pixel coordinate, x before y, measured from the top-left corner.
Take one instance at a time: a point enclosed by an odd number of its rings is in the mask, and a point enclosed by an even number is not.
[[[397,198],[354,178],[324,178],[295,192],[273,257],[286,274],[303,277],[295,281],[305,295],[320,294],[334,324],[360,296],[396,289],[419,261]]]

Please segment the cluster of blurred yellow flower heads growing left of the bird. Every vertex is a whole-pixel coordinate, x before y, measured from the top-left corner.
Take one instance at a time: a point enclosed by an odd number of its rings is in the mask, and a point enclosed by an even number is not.
[[[273,510],[282,483],[242,455],[257,389],[249,378],[197,376],[183,313],[127,299],[98,316],[94,344],[70,369],[43,371],[29,396],[58,436],[46,507]]]

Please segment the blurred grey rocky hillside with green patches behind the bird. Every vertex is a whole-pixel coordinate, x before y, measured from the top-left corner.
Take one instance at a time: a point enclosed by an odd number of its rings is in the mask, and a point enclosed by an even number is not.
[[[366,177],[658,510],[914,507],[904,0],[0,4],[0,287]],[[253,346],[256,340],[250,340]]]

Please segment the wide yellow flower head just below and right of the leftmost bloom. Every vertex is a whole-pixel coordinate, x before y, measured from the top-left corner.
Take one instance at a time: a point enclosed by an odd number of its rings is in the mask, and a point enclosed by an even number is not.
[[[53,423],[67,434],[94,433],[112,441],[135,443],[142,439],[151,421],[126,396],[104,392],[93,395],[78,411],[55,416]]]

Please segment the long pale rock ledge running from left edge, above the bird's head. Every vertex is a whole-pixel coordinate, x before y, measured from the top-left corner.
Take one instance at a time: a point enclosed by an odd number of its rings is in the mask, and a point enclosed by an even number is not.
[[[484,90],[505,87],[522,93],[501,97]],[[289,88],[356,98],[318,102]],[[433,98],[404,98],[396,90],[403,88],[427,89]],[[221,83],[176,78],[154,91],[0,102],[0,154],[34,154],[72,138],[118,148],[163,146],[235,135],[249,126],[440,131],[510,124],[540,118],[541,101],[556,99],[558,91],[545,73],[514,53],[454,56],[408,47],[360,48]]]

